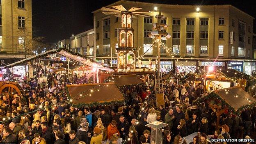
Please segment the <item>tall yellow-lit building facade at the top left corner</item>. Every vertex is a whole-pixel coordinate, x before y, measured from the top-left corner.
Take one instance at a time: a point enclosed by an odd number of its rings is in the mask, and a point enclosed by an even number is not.
[[[0,53],[4,57],[23,54],[32,47],[31,2],[0,0]]]

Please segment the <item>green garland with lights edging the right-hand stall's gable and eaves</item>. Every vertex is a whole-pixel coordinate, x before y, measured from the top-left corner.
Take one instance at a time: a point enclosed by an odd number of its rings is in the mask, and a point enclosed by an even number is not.
[[[240,115],[243,110],[245,110],[245,109],[252,109],[256,105],[256,102],[248,104],[248,105],[243,105],[242,107],[238,108],[238,110],[235,111],[235,109],[231,105],[226,103],[226,101],[224,101],[215,92],[211,92],[207,96],[199,98],[198,100],[194,101],[193,104],[199,106],[201,103],[206,102],[206,101],[209,101],[213,105],[218,105],[218,106],[222,106],[222,107],[228,106],[229,107],[229,111],[233,112],[234,114],[238,114],[238,115]]]

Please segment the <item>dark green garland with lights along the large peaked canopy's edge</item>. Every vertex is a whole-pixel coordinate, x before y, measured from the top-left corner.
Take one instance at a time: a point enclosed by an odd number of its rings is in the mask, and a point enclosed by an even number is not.
[[[18,66],[18,65],[21,65],[21,64],[25,64],[25,63],[27,63],[27,62],[33,61],[34,59],[38,59],[38,58],[46,57],[46,56],[48,56],[48,55],[52,55],[52,54],[55,54],[55,53],[59,53],[61,50],[64,50],[64,51],[66,51],[67,53],[70,53],[71,55],[79,56],[79,57],[82,57],[82,58],[84,58],[84,59],[89,59],[88,57],[86,57],[86,56],[84,56],[84,55],[81,55],[81,54],[79,54],[79,53],[74,53],[74,52],[72,52],[71,50],[69,50],[69,49],[67,49],[67,48],[59,48],[59,49],[57,49],[57,50],[50,51],[50,52],[48,52],[48,53],[44,53],[44,54],[41,53],[41,54],[37,55],[36,57],[27,59],[27,60],[22,61],[22,62],[18,62],[18,63],[16,63],[16,64],[10,64],[10,65],[4,66],[4,67],[2,67],[0,70],[2,70],[2,69],[7,69],[7,68],[11,68],[11,67]],[[28,58],[29,58],[29,57],[28,57]],[[91,60],[91,61],[92,61],[92,60]]]

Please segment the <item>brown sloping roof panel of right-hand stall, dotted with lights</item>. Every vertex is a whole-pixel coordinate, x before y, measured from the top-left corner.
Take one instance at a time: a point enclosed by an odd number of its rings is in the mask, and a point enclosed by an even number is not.
[[[256,102],[256,99],[254,97],[252,97],[249,93],[247,93],[240,87],[229,87],[226,89],[230,91],[228,94],[226,94],[225,89],[215,90],[215,93],[217,93],[224,101],[226,101],[226,103],[228,103],[235,110],[238,110],[238,108],[244,105]],[[235,94],[238,94],[238,97],[234,98]],[[246,98],[250,99],[251,102],[246,100]]]

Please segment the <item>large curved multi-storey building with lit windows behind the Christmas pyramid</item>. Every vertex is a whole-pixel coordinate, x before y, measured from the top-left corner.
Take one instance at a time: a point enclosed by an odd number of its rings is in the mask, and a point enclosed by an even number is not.
[[[157,48],[148,32],[153,30],[154,17],[161,9],[166,16],[162,23],[169,27],[171,39],[162,41],[161,65],[175,66],[221,66],[237,69],[247,74],[256,69],[253,49],[253,17],[231,5],[162,5],[146,2],[131,2],[121,0],[106,7],[123,5],[128,9],[141,7],[141,11],[150,11],[150,17],[137,16],[133,18],[134,47],[138,48],[137,57],[143,57],[142,65],[146,66],[148,59],[155,60]],[[94,13],[96,58],[110,59],[111,49],[114,52],[118,46],[118,29],[121,20],[115,15],[105,15],[100,9]],[[71,44],[72,45],[72,44]],[[117,57],[112,53],[113,57]],[[214,62],[218,59],[219,63]],[[179,59],[177,62],[176,60]],[[190,62],[186,62],[187,61]],[[108,61],[109,62],[109,61]],[[216,61],[215,61],[216,62]]]

